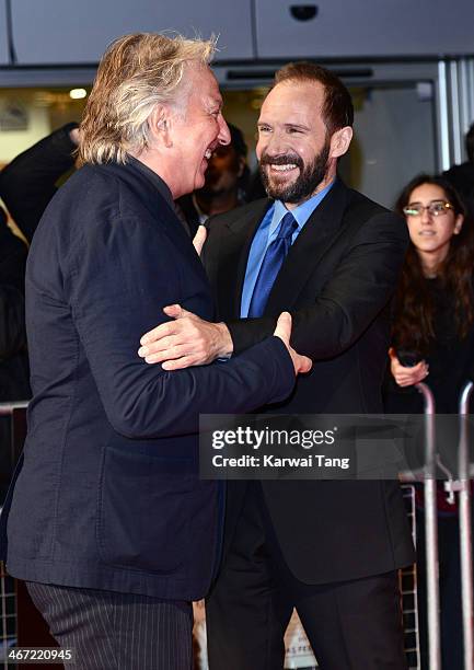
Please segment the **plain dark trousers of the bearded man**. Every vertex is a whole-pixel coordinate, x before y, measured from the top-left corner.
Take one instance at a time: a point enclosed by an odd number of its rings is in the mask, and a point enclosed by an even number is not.
[[[281,670],[293,607],[322,670],[406,670],[396,571],[322,586],[299,581],[264,505],[251,486],[207,600],[210,670]]]

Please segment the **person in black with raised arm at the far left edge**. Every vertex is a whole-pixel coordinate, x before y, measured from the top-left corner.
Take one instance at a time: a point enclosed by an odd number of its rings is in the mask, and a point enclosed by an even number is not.
[[[74,165],[79,141],[78,124],[55,130],[20,153],[0,172],[0,197],[13,219],[0,209],[0,402],[31,397],[30,366],[24,314],[24,274],[27,243],[32,241],[57,182]],[[12,220],[10,219],[10,222]],[[11,417],[0,417],[0,505],[12,475]]]

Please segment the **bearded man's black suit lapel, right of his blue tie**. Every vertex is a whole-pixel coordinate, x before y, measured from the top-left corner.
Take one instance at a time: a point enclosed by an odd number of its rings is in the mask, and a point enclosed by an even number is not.
[[[285,258],[271,288],[265,315],[278,314],[294,304],[320,259],[344,231],[342,220],[349,197],[348,188],[337,180]]]

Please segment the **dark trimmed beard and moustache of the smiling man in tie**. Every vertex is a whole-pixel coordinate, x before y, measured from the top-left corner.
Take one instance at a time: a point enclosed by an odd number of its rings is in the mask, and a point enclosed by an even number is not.
[[[285,153],[274,158],[263,153],[259,160],[259,172],[268,197],[294,205],[309,198],[326,176],[330,150],[331,142],[326,140],[320,153],[308,165],[304,165],[302,158],[297,153]],[[290,184],[279,184],[277,180],[269,177],[268,172],[265,170],[265,165],[271,163],[274,165],[294,164],[299,168],[300,174]]]

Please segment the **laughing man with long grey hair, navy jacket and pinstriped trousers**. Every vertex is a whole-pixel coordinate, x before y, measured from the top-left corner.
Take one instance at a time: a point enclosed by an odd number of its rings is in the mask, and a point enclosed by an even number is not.
[[[282,400],[311,366],[289,346],[288,314],[226,365],[171,373],[136,354],[166,304],[213,317],[173,207],[229,142],[213,49],[157,34],[109,47],[81,125],[83,166],[31,247],[34,397],[3,548],[73,668],[189,670],[190,601],[216,571],[223,516],[222,490],[197,474],[198,414]]]

